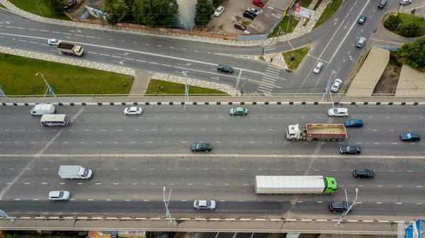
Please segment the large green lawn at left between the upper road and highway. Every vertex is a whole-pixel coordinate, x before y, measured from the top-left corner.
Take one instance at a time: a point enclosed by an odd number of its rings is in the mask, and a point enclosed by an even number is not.
[[[42,73],[55,94],[129,94],[134,77],[0,53],[0,86],[6,95],[45,94]]]

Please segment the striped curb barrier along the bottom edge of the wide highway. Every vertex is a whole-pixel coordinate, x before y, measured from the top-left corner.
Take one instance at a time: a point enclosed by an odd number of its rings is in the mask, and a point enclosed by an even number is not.
[[[13,217],[21,220],[169,220],[168,217]],[[7,219],[7,218],[4,218]],[[234,222],[338,222],[339,219],[285,219],[285,218],[173,218],[174,221],[234,221]],[[342,220],[342,222],[361,223],[413,223],[414,221],[389,220]]]

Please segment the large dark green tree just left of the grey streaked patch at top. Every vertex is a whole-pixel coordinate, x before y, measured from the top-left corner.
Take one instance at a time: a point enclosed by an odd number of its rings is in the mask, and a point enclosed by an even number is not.
[[[132,13],[135,20],[149,27],[165,27],[174,25],[179,4],[176,0],[134,0]]]

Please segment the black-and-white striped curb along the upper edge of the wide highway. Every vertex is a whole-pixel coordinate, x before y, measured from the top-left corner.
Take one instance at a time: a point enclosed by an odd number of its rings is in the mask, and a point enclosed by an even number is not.
[[[1,106],[35,106],[40,103],[1,103]],[[48,103],[55,106],[425,106],[425,102],[135,102],[135,103]]]

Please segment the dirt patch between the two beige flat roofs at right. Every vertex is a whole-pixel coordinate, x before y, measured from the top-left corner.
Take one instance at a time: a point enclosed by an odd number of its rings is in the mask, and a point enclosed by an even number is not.
[[[380,96],[380,94],[387,94],[386,96],[392,94],[394,96],[401,71],[402,65],[398,64],[395,59],[391,59],[373,90],[374,96]]]

